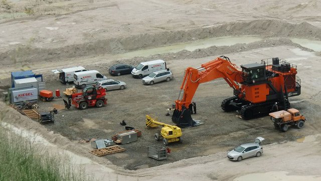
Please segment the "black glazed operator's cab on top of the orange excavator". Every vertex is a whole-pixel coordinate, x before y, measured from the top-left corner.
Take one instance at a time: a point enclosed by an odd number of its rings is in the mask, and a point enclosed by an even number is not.
[[[244,84],[255,84],[266,80],[265,65],[253,63],[241,65]]]

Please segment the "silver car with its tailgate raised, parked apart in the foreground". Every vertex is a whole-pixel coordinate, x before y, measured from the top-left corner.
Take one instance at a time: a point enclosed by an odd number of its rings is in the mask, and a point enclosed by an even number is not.
[[[227,157],[231,160],[241,161],[242,159],[249,158],[252,156],[261,156],[263,153],[263,147],[261,142],[264,140],[262,137],[255,138],[253,143],[242,144],[232,151],[227,153]]]

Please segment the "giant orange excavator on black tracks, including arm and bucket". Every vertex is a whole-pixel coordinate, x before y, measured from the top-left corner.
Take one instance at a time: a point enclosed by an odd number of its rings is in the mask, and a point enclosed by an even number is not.
[[[196,125],[188,109],[193,96],[199,84],[218,78],[223,78],[234,90],[233,97],[222,101],[221,108],[226,112],[238,110],[247,120],[287,110],[290,108],[288,97],[301,93],[296,73],[295,65],[279,58],[241,65],[240,69],[228,57],[220,56],[199,68],[189,67],[185,70],[179,98],[175,101],[172,121],[180,127]]]

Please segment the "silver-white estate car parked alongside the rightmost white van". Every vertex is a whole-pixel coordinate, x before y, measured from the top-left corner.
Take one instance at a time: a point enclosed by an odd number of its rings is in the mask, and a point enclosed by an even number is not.
[[[149,74],[147,77],[144,77],[142,79],[142,83],[153,85],[154,83],[157,83],[157,82],[170,81],[173,78],[174,76],[173,76],[173,73],[170,71],[170,69],[159,70]]]

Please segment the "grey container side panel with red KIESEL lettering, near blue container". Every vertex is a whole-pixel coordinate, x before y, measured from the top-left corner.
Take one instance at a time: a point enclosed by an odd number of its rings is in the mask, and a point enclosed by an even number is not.
[[[38,90],[37,88],[13,90],[12,96],[14,102],[37,100]]]

